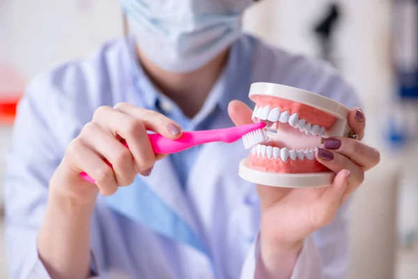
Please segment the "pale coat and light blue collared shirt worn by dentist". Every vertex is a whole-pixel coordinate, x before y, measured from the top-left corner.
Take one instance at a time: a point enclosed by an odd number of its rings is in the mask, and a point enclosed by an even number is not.
[[[184,130],[233,126],[229,101],[248,98],[252,82],[314,91],[348,107],[353,89],[329,66],[242,36],[224,73],[194,119],[187,119],[144,75],[134,40],[109,42],[86,59],[37,77],[22,99],[6,175],[6,248],[11,278],[49,278],[36,237],[48,183],[65,148],[102,105],[128,102],[160,110]],[[169,104],[169,105],[167,105]],[[155,164],[148,177],[98,197],[91,223],[91,263],[100,278],[253,278],[260,206],[253,184],[238,177],[242,142],[212,143]],[[305,240],[293,279],[341,278],[347,270],[347,208]]]

